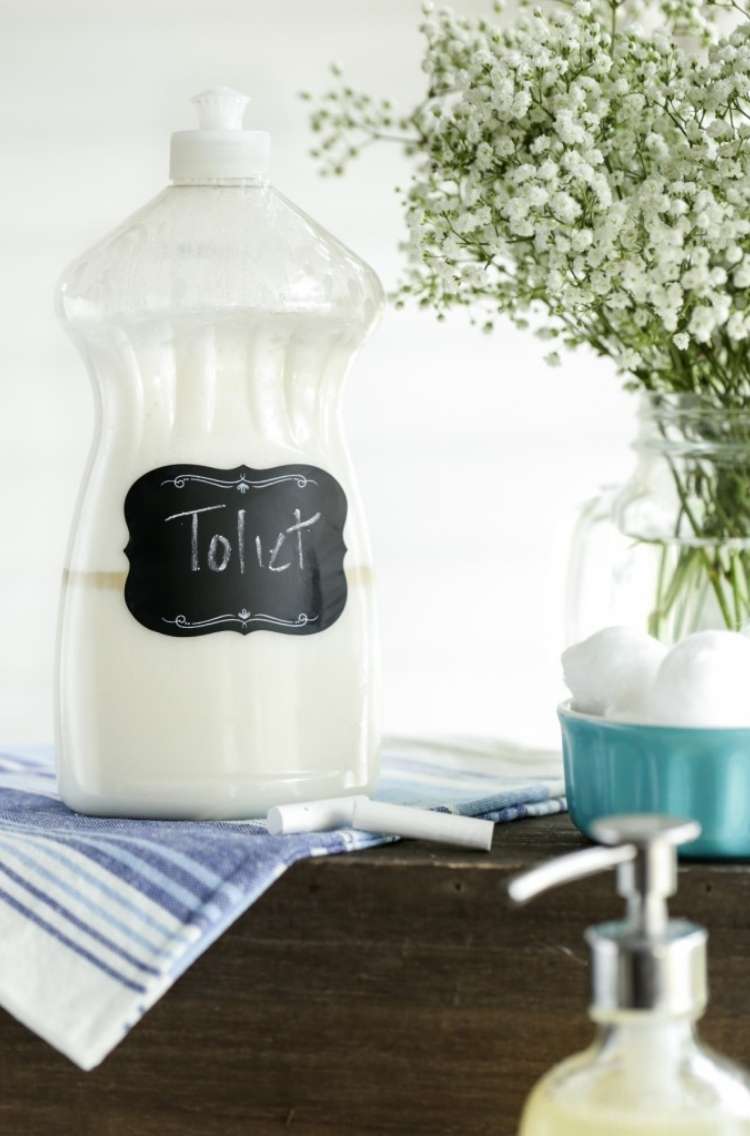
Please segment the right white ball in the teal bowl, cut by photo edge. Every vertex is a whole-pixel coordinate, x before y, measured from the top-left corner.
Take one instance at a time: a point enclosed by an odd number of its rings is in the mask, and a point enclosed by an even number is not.
[[[665,658],[649,720],[664,726],[750,726],[750,640],[739,632],[697,632]]]

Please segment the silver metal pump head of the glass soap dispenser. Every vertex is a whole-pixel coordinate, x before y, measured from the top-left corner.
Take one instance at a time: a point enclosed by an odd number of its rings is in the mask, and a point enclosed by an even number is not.
[[[608,847],[584,849],[511,880],[510,897],[525,903],[549,887],[617,869],[625,919],[586,932],[591,951],[592,1013],[649,1011],[698,1014],[707,1001],[706,932],[669,919],[677,891],[677,845],[694,841],[700,825],[672,817],[607,817],[592,826]]]

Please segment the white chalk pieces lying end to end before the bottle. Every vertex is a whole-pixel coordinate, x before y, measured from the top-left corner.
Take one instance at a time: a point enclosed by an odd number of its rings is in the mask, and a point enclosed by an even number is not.
[[[281,804],[268,812],[268,832],[320,833],[331,828],[357,828],[366,833],[388,833],[413,840],[457,844],[489,852],[494,824],[476,817],[459,817],[432,809],[411,809],[405,804],[370,801],[368,796],[339,796],[301,804]]]

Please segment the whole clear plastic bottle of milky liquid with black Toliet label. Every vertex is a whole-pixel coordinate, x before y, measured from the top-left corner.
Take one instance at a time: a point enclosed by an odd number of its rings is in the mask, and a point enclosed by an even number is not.
[[[98,411],[64,583],[59,778],[95,815],[258,816],[376,774],[373,573],[340,395],[382,289],[268,184],[244,95],[193,101],[172,185],[59,289]]]

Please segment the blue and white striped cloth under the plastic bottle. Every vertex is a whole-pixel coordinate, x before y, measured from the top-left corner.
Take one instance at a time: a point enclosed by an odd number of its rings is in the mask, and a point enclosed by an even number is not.
[[[559,758],[497,743],[393,741],[377,795],[505,821],[565,809],[559,776]],[[92,1069],[295,860],[388,838],[81,817],[50,751],[1,754],[0,1004]]]

